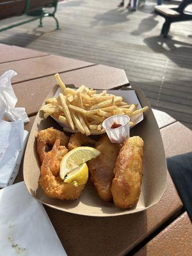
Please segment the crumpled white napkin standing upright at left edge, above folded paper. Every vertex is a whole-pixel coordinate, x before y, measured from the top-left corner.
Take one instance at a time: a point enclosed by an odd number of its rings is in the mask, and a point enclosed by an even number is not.
[[[17,73],[8,70],[0,77],[0,109],[4,108],[4,116],[10,121],[21,119],[23,122],[29,122],[25,108],[15,108],[17,97],[13,91],[11,79]]]

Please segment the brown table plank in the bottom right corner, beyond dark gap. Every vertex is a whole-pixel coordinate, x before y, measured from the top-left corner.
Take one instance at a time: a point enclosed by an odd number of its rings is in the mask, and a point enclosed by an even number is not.
[[[187,212],[164,228],[154,239],[147,243],[135,256],[175,256],[191,255],[192,228]]]

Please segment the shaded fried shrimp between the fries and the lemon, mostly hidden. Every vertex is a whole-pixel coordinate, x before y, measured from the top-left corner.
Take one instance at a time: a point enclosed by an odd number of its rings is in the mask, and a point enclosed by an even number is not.
[[[72,150],[81,146],[95,145],[95,143],[95,140],[84,134],[74,133],[72,134],[72,136],[70,136],[70,139],[68,141],[68,150]]]

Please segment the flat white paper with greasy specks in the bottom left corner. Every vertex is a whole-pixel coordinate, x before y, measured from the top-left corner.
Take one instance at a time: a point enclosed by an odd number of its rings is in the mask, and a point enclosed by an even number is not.
[[[24,182],[0,191],[0,254],[67,255],[42,204]]]

